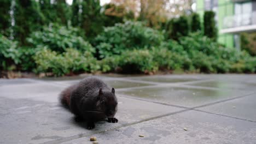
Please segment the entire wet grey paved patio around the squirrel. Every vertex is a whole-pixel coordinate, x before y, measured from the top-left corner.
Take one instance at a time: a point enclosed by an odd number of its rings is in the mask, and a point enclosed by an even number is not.
[[[58,101],[86,76],[0,79],[0,143],[256,141],[256,75],[98,76],[116,89],[119,122],[97,122],[94,130]]]

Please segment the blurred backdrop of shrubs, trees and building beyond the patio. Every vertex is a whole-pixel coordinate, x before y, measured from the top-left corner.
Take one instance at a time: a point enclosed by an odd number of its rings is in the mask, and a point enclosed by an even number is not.
[[[256,1],[0,0],[0,77],[256,73]]]

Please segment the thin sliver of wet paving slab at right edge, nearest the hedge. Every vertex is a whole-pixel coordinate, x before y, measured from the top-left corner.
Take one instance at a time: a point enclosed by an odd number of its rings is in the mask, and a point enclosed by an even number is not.
[[[256,79],[255,79],[256,81]],[[247,81],[207,81],[207,82],[196,82],[196,83],[189,83],[187,85],[191,86],[201,86],[201,87],[214,87],[220,89],[243,89],[248,91],[256,91],[256,83],[250,83]]]

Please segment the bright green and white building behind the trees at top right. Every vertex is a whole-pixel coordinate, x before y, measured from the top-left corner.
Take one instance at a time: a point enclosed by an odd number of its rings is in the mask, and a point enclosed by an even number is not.
[[[196,0],[196,11],[203,17],[206,10],[216,12],[218,41],[240,49],[240,34],[256,31],[255,0]]]

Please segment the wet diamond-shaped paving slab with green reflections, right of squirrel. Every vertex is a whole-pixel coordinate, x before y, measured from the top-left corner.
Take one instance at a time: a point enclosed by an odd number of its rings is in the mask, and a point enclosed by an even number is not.
[[[159,103],[195,107],[253,93],[236,89],[201,89],[185,87],[150,87],[121,91],[120,94]]]

